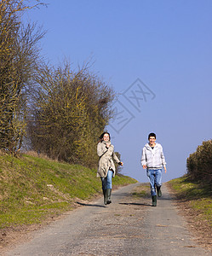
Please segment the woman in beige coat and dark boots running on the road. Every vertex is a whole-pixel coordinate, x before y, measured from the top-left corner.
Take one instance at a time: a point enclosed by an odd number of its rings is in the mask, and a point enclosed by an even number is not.
[[[103,132],[100,136],[100,142],[97,145],[97,154],[100,157],[97,177],[100,177],[102,191],[104,195],[104,204],[110,204],[112,195],[112,177],[115,177],[116,168],[112,158],[118,165],[123,166],[123,162],[118,160],[114,153],[114,146],[111,144],[111,137],[108,132]]]

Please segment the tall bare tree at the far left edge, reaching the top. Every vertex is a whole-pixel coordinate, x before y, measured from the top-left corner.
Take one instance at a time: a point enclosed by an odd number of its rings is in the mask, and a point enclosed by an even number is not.
[[[0,1],[0,148],[10,154],[20,150],[26,134],[27,91],[40,61],[43,32],[21,23],[32,7],[23,0]]]

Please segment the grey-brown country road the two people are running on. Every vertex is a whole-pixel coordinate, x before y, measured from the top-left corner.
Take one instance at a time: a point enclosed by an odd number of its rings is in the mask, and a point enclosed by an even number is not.
[[[138,185],[113,191],[108,206],[102,198],[82,204],[3,255],[211,255],[195,244],[164,184],[158,207],[132,197]]]

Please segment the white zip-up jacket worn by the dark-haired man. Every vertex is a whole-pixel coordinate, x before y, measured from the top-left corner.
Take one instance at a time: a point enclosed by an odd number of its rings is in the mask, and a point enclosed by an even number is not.
[[[162,166],[166,166],[161,144],[156,143],[152,149],[149,143],[146,143],[141,156],[141,166],[144,165],[147,166],[147,169],[162,169]]]

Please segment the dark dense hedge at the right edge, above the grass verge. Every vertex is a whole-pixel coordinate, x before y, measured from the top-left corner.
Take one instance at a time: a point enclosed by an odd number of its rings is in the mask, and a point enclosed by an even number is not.
[[[195,153],[187,158],[187,174],[193,180],[203,183],[212,182],[212,140],[203,142]]]

